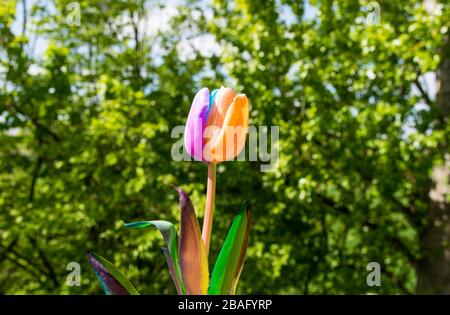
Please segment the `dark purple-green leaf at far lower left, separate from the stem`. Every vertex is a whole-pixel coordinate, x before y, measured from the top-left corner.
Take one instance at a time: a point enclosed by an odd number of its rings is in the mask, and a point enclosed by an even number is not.
[[[89,262],[107,295],[139,295],[127,278],[108,260],[93,253],[88,253]]]

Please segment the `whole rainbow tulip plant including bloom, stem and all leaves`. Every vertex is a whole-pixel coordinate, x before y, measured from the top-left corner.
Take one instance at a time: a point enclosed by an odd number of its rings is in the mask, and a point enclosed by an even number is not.
[[[208,252],[214,213],[217,163],[238,156],[248,129],[248,100],[230,88],[212,93],[201,89],[194,98],[186,124],[184,144],[194,159],[208,165],[203,230],[189,196],[176,186],[180,203],[180,233],[168,221],[126,223],[128,228],[155,227],[165,242],[162,248],[178,294],[235,294],[242,272],[252,225],[252,205],[245,201],[237,213],[209,274]],[[106,294],[139,294],[107,259],[90,252],[88,259]]]

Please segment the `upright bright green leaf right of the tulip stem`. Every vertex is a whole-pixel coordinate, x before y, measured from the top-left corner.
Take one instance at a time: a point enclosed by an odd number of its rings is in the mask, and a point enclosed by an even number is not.
[[[252,225],[250,201],[245,201],[231,225],[214,265],[208,294],[235,294],[244,266],[248,237]]]

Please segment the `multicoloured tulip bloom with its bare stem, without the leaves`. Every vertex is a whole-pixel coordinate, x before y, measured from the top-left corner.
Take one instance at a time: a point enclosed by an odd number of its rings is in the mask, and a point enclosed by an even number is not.
[[[197,92],[188,115],[184,145],[195,159],[208,163],[202,238],[209,252],[216,189],[216,164],[239,155],[248,131],[248,99],[227,87]]]

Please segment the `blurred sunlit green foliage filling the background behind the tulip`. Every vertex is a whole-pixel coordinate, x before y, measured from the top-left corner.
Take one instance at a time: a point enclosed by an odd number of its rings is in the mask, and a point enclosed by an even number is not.
[[[0,293],[101,293],[95,250],[140,292],[174,294],[159,233],[122,222],[178,222],[169,184],[202,218],[206,166],[173,161],[171,131],[221,85],[247,94],[252,125],[280,126],[280,159],[218,167],[211,266],[255,199],[238,293],[415,292],[450,131],[417,84],[438,67],[447,1],[380,0],[370,25],[362,0],[79,0],[80,26],[70,2],[0,5]]]

